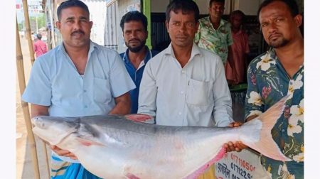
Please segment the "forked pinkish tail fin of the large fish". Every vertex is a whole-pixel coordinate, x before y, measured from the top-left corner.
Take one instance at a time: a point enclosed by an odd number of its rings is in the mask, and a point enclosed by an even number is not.
[[[274,104],[272,107],[267,109],[266,112],[262,113],[260,116],[257,116],[255,119],[246,122],[244,125],[247,124],[255,124],[257,121],[260,121],[259,124],[262,124],[260,131],[257,131],[257,135],[260,133],[260,139],[256,142],[249,142],[245,143],[250,148],[255,149],[256,151],[262,153],[262,155],[267,156],[269,158],[273,158],[274,160],[278,161],[292,161],[291,159],[284,156],[281,152],[277,143],[274,142],[272,139],[271,129],[273,128],[274,124],[277,123],[277,119],[282,115],[282,112],[285,107],[285,103],[287,102],[289,96],[283,97],[279,102]],[[250,130],[257,130],[250,129]],[[247,131],[243,131],[247,132]],[[255,134],[255,132],[251,133]]]

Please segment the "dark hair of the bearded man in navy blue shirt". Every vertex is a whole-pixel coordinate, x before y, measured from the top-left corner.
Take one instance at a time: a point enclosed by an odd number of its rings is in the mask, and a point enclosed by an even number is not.
[[[121,21],[120,21],[120,27],[124,29],[124,23],[128,23],[130,21],[141,21],[142,24],[144,25],[144,31],[146,31],[147,26],[148,26],[148,21],[146,20],[146,16],[144,16],[143,13],[139,11],[129,11],[124,16],[122,16]]]

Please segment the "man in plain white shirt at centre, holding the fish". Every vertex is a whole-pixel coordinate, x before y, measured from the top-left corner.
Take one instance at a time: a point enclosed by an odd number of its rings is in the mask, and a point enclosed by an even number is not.
[[[199,9],[192,0],[171,1],[166,9],[168,48],[146,64],[138,113],[167,126],[238,126],[231,118],[231,97],[218,55],[198,48],[193,38]],[[240,151],[242,143],[225,145]]]

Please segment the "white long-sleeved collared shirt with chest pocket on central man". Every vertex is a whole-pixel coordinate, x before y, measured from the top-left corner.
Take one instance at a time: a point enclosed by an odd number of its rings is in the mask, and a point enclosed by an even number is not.
[[[139,93],[138,113],[169,126],[227,126],[233,121],[231,97],[218,55],[193,44],[181,67],[171,44],[149,60]]]

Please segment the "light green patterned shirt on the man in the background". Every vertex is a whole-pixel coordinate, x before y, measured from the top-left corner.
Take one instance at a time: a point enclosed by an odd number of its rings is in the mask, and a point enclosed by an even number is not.
[[[209,16],[201,18],[194,41],[199,47],[218,54],[225,64],[228,58],[228,46],[233,44],[230,23],[221,19],[220,26],[215,30]]]

